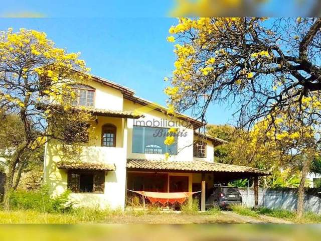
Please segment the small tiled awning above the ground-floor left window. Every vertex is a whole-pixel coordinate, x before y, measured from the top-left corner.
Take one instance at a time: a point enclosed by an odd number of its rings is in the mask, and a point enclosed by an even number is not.
[[[58,169],[115,171],[114,164],[101,162],[58,162]]]

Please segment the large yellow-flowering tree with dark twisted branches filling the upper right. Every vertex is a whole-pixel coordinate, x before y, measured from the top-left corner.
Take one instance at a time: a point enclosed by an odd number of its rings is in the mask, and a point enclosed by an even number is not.
[[[169,107],[206,122],[211,103],[236,106],[238,127],[301,153],[303,177],[319,149],[320,30],[318,18],[180,18]]]

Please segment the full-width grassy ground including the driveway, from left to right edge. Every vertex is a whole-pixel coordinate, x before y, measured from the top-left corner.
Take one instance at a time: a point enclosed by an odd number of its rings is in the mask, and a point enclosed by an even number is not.
[[[251,209],[233,206],[232,211],[212,209],[206,212],[183,210],[163,212],[146,210],[101,210],[81,208],[67,213],[45,213],[38,210],[0,211],[0,223],[118,223],[118,224],[188,224],[188,223],[321,223],[321,216],[305,213],[297,219],[290,211]]]

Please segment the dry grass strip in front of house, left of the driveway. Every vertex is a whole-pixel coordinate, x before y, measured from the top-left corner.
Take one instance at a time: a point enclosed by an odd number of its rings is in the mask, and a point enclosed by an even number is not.
[[[0,211],[0,223],[242,223],[220,211],[202,213],[155,210],[110,211],[78,209],[70,213],[43,213],[36,210]]]

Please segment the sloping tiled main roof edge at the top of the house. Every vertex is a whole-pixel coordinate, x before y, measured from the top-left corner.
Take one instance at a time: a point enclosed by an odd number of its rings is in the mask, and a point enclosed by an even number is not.
[[[127,88],[127,87],[125,87],[123,85],[117,84],[115,82],[112,82],[112,81],[110,81],[108,79],[105,79],[105,78],[101,78],[101,77],[96,76],[96,75],[92,75],[92,74],[88,74],[88,75],[91,76],[92,80],[94,80],[96,82],[99,82],[99,83],[102,83],[102,84],[107,85],[109,87],[112,87],[112,88],[120,90],[125,99],[131,100],[134,103],[139,103],[141,105],[149,105],[153,109],[167,114],[168,108],[166,108],[165,106],[162,106],[162,105],[158,105],[158,104],[152,103],[152,102],[150,102],[150,101],[148,101],[146,99],[143,99],[141,97],[135,96],[134,95],[135,91],[130,89],[130,88]],[[194,128],[196,128],[196,129],[205,125],[202,122],[197,121],[196,119],[194,119],[194,118],[192,118],[192,117],[190,117],[188,115],[181,114],[181,113],[177,113],[177,114],[178,114],[177,118],[182,119],[183,121],[187,121],[187,122],[191,123],[194,126]]]

